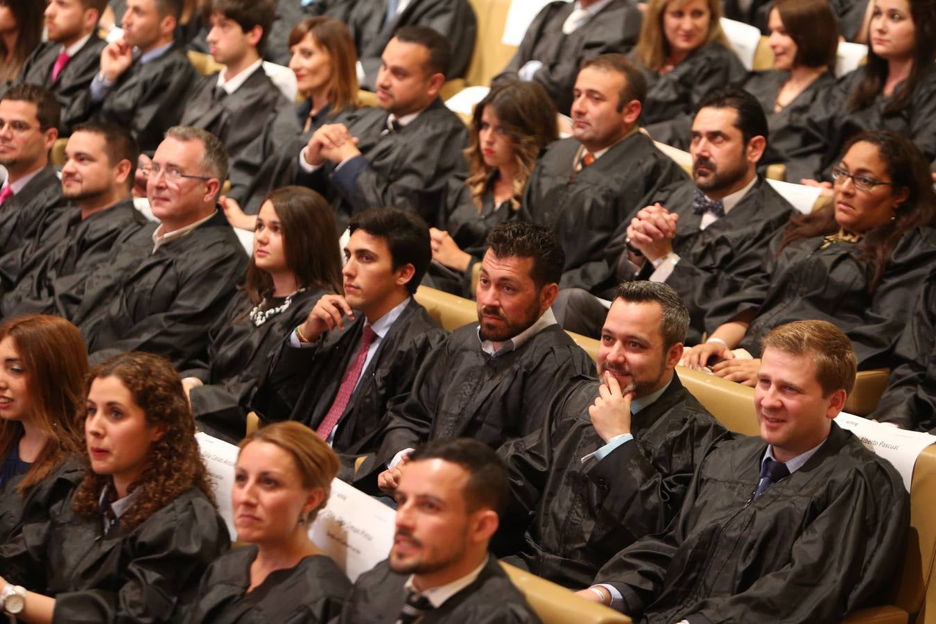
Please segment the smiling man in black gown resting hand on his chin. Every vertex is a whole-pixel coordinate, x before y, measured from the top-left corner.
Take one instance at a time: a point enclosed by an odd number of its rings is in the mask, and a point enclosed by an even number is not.
[[[625,282],[607,312],[598,378],[556,393],[544,427],[500,450],[510,473],[505,561],[588,587],[614,553],[680,511],[724,428],[675,373],[689,312],[662,283]]]

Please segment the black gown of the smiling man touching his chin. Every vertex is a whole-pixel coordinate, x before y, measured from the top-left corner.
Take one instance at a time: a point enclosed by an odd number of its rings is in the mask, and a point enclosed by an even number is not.
[[[582,457],[605,443],[589,407],[600,382],[572,379],[556,393],[546,424],[500,450],[510,474],[510,503],[499,529],[523,530],[504,544],[505,560],[568,588],[588,587],[614,553],[664,530],[679,514],[695,467],[724,427],[679,377],[634,415],[635,439],[601,461]]]

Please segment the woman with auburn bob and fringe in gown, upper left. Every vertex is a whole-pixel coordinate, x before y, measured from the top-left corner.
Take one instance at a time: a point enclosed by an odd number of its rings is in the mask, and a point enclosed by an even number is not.
[[[315,130],[358,108],[358,54],[343,22],[328,17],[299,22],[289,34],[289,51],[303,99],[294,111],[274,112],[231,163],[231,190],[221,205],[235,227],[254,229],[263,198],[292,183],[297,154]]]

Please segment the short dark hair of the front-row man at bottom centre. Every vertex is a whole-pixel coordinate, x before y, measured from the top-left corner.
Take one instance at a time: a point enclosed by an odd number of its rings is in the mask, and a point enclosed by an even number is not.
[[[507,468],[490,446],[471,438],[446,438],[422,444],[410,461],[442,459],[468,472],[463,491],[469,512],[487,507],[500,515],[507,501]]]

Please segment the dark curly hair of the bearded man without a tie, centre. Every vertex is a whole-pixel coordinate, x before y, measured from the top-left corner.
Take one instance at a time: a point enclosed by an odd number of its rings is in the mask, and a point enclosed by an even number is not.
[[[486,240],[490,252],[499,258],[533,258],[530,277],[542,288],[559,283],[565,268],[565,252],[556,235],[543,225],[512,220],[495,225]]]

